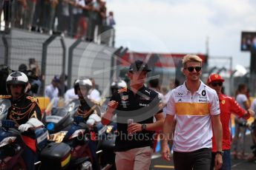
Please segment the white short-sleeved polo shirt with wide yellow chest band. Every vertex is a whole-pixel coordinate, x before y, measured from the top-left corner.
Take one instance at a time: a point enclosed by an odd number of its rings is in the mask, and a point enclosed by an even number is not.
[[[203,82],[192,95],[184,83],[173,89],[166,113],[176,115],[174,151],[193,152],[211,148],[211,115],[220,114],[219,98],[214,89]]]

